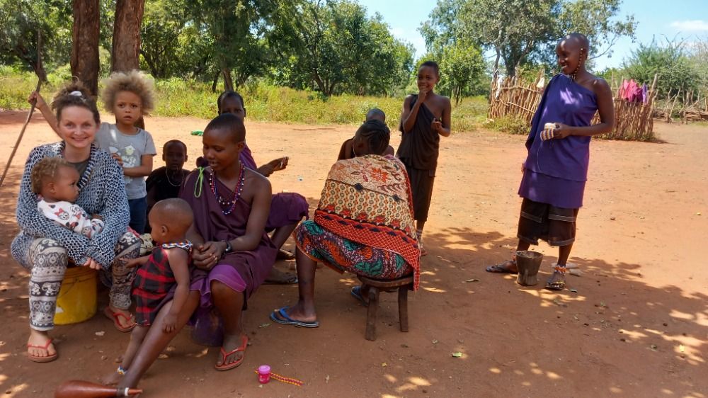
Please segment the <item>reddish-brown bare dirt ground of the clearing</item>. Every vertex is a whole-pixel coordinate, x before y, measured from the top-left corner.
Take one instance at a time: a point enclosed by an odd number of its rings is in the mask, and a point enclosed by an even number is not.
[[[24,118],[0,113],[3,165]],[[207,120],[146,122],[159,146],[178,138],[188,144],[191,160],[200,153],[200,137],[189,132],[202,130]],[[355,130],[246,126],[256,161],[290,156],[287,169],[271,178],[273,191],[302,193],[311,211],[339,145]],[[525,137],[455,134],[441,142],[425,234],[430,254],[422,261],[421,290],[409,295],[409,333],[398,330],[396,296],[384,294],[378,339],[365,340],[366,310],[349,295],[356,279],[323,268],[316,280],[318,329],[271,324],[270,311],[294,303],[297,287],[262,286],[246,312],[252,345],[240,368],[216,372],[218,348],[195,345],[184,330],[142,381],[143,396],[708,397],[702,254],[708,128],[658,124],[656,130],[663,143],[593,142],[571,255],[583,275],[569,276],[573,291],[548,292],[542,283],[524,288],[510,275],[484,272],[515,248]],[[14,206],[28,152],[55,140],[35,115],[0,188],[1,397],[50,397],[64,380],[96,380],[115,369],[113,360],[128,342],[127,334],[96,316],[57,326],[55,362],[26,358],[28,273],[9,254],[18,231]],[[394,134],[392,145],[398,142]],[[544,244],[538,250],[546,256],[545,280],[557,252]],[[461,358],[452,356],[457,352]],[[253,370],[262,364],[305,385],[259,385]]]

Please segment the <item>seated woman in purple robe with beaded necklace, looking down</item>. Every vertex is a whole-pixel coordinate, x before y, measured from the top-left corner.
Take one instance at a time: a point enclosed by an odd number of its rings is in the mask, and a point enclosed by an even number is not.
[[[241,161],[245,138],[246,127],[237,116],[226,113],[212,120],[202,137],[209,166],[193,171],[180,193],[194,212],[188,239],[195,244],[191,289],[200,292],[198,322],[216,309],[223,326],[217,370],[236,368],[244,360],[249,339],[241,329],[241,313],[278,253],[265,234],[270,182]]]

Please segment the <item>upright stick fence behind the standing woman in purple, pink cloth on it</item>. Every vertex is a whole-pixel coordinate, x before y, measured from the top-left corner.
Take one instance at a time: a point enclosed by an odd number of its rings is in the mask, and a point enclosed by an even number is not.
[[[629,102],[619,97],[615,89],[615,127],[611,132],[600,135],[608,140],[651,141],[654,139],[652,109],[656,97],[656,78],[651,84],[646,102]],[[506,116],[519,118],[531,125],[538,103],[541,101],[545,86],[543,74],[539,74],[532,83],[522,83],[515,77],[504,79],[501,84],[493,79],[489,98],[489,118]],[[600,123],[600,116],[595,113],[593,124]]]

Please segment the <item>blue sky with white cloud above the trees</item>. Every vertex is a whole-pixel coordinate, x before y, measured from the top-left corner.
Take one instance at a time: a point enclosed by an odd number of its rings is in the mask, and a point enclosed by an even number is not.
[[[416,48],[416,57],[426,52],[426,42],[418,33],[418,27],[427,21],[435,0],[359,0],[368,13],[378,12],[391,27],[396,38],[405,40]],[[708,38],[708,0],[624,0],[620,16],[633,14],[636,26],[634,42],[621,38],[612,47],[611,57],[595,59],[595,69],[620,67],[622,61],[632,54],[639,43],[666,43],[666,38],[691,42]],[[491,57],[491,54],[489,54]]]

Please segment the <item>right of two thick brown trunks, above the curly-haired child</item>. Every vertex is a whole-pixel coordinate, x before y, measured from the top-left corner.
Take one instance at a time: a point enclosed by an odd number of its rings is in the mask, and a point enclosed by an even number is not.
[[[144,0],[115,2],[110,72],[130,72],[140,68],[140,24],[144,8]]]

